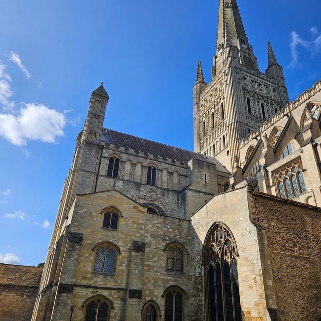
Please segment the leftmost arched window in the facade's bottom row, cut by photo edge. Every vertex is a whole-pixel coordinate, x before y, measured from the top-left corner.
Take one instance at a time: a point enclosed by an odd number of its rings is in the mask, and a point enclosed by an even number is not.
[[[101,296],[94,297],[86,305],[85,321],[108,321],[112,307],[108,300]]]

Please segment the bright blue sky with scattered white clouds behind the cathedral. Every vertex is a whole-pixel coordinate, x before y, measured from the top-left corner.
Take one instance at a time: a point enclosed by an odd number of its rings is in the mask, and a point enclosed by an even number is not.
[[[262,72],[290,100],[321,78],[321,2],[238,0]],[[217,0],[0,2],[0,262],[44,262],[91,92],[104,126],[193,150],[193,85],[210,82]]]

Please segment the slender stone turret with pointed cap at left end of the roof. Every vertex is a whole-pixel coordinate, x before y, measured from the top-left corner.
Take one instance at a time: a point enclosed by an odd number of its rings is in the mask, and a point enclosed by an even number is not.
[[[109,96],[103,83],[95,89],[89,100],[89,110],[84,124],[82,141],[99,143]]]

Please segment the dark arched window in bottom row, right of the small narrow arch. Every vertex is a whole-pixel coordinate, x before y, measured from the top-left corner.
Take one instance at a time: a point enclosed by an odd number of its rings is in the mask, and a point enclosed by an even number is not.
[[[165,290],[165,321],[184,321],[185,292],[178,286]]]

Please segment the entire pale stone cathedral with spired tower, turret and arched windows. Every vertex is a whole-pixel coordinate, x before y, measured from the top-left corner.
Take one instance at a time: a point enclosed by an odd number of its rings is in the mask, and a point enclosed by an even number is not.
[[[32,320],[320,320],[321,81],[289,102],[220,0],[193,93],[194,152],[103,128],[92,92]]]

